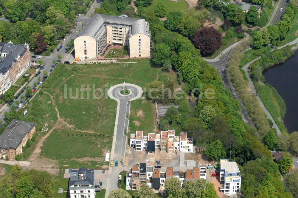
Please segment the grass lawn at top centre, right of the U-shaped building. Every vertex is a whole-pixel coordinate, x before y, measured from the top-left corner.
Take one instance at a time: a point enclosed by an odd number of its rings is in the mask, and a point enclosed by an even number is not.
[[[177,0],[176,1],[170,1],[170,0],[153,0],[152,4],[148,7],[144,7],[144,10],[146,12],[155,10],[155,6],[158,2],[162,2],[164,4],[164,8],[167,12],[167,14],[171,11],[181,11],[187,9],[188,5],[184,0]]]

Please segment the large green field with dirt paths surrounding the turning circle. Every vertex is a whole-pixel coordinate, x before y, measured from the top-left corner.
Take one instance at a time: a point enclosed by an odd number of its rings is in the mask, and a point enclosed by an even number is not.
[[[51,120],[58,119],[54,106],[57,106],[60,115],[58,122],[53,122],[56,123],[55,129],[41,147],[41,156],[56,160],[60,169],[107,167],[104,154],[111,151],[117,106],[117,102],[106,95],[108,87],[124,81],[142,86],[157,80],[161,72],[160,68],[152,67],[150,62],[59,65],[53,75],[43,83],[41,89],[43,93],[40,97],[35,97],[30,102],[30,105],[38,102],[39,106],[46,108],[45,116],[38,116],[42,117],[40,121],[42,125],[44,122],[52,123]],[[91,88],[89,97],[87,85]],[[97,90],[98,88],[103,89],[103,92]],[[76,89],[77,98],[71,98],[70,92],[75,97]],[[94,93],[92,89],[95,90]],[[53,97],[54,105],[52,102],[48,103],[51,99],[45,92]],[[100,98],[100,95],[103,97]],[[140,127],[144,130],[151,131],[154,128],[152,104],[145,100],[146,103],[140,108],[142,101],[132,101],[131,112],[142,109],[145,119],[142,120],[137,116],[132,118],[138,119],[142,124]],[[31,110],[28,113],[31,117]],[[37,120],[31,118],[30,120]],[[51,129],[51,126],[48,128]],[[38,129],[40,127],[38,126]]]

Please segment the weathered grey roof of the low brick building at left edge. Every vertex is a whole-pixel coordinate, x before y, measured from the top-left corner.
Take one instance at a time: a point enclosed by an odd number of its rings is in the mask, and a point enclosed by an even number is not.
[[[34,125],[35,123],[31,122],[12,120],[0,135],[0,148],[16,149]]]

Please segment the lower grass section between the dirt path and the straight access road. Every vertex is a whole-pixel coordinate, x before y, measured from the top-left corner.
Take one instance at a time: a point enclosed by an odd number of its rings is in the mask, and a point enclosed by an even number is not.
[[[97,168],[101,164],[97,165],[96,160],[76,160],[76,158],[96,157],[97,160],[104,161],[104,154],[110,149],[108,146],[111,144],[112,136],[55,129],[44,141],[41,155],[57,160],[58,163],[61,162],[60,164],[67,164],[70,168],[82,166]]]

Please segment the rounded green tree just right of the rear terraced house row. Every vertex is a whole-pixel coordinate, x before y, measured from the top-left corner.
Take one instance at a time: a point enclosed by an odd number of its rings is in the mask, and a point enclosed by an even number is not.
[[[219,140],[208,144],[204,153],[208,159],[214,161],[219,161],[219,159],[226,157],[226,149]]]

